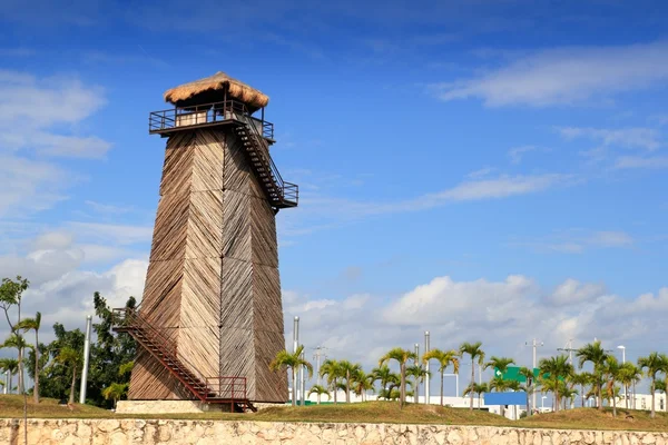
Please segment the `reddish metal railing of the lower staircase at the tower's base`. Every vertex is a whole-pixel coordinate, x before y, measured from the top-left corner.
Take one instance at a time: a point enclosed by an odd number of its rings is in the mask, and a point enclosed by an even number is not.
[[[183,357],[178,356],[176,343],[167,337],[160,329],[153,326],[145,317],[138,314],[137,308],[120,308],[112,310],[114,326],[128,329],[140,330],[150,343],[159,347],[163,357],[158,360],[167,367],[190,392],[203,402],[212,399],[224,399],[235,403],[235,400],[246,400],[246,377],[204,377],[195,366],[190,365]],[[130,334],[131,335],[131,334]],[[135,336],[132,336],[135,337]],[[136,338],[137,339],[137,338]],[[143,343],[140,339],[137,342]],[[149,350],[151,355],[154,352]],[[169,357],[166,357],[169,355]],[[193,382],[187,382],[178,375],[178,372],[189,374]],[[212,383],[213,385],[209,385]]]

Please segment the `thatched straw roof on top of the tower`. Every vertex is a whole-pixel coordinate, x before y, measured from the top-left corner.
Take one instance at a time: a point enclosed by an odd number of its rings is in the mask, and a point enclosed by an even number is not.
[[[179,85],[165,91],[165,101],[176,106],[193,106],[197,103],[210,103],[224,100],[224,90],[227,90],[227,97],[239,100],[253,112],[258,108],[266,107],[269,102],[268,96],[262,91],[227,76],[223,71],[214,76],[195,80],[189,83]]]

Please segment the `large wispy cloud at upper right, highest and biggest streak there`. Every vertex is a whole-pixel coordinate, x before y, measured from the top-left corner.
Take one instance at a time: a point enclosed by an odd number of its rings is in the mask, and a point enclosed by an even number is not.
[[[442,100],[480,98],[487,106],[582,103],[668,80],[668,42],[572,47],[519,58],[489,72],[432,86]]]

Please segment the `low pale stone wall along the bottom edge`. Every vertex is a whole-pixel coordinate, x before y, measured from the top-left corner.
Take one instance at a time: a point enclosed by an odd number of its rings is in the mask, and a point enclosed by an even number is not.
[[[138,419],[28,421],[30,445],[666,445],[667,441],[668,433],[550,431],[493,426]],[[0,419],[0,444],[23,444],[20,421]]]

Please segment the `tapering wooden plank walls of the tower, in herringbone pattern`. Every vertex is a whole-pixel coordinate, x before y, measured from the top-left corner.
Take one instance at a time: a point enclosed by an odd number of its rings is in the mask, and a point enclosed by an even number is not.
[[[268,370],[285,347],[274,210],[229,130],[167,141],[141,314],[174,336],[204,377],[243,376],[256,402],[287,399]],[[131,399],[191,398],[146,353]]]

